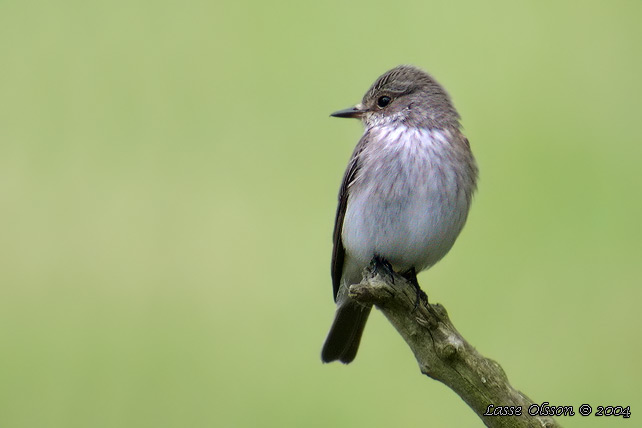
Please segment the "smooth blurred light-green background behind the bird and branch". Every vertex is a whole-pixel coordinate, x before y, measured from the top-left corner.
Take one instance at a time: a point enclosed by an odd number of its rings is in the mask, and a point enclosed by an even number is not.
[[[375,313],[323,365],[356,121],[411,63],[477,156],[420,276],[536,401],[642,412],[642,2],[0,3],[0,426],[477,427]]]

